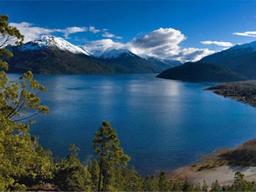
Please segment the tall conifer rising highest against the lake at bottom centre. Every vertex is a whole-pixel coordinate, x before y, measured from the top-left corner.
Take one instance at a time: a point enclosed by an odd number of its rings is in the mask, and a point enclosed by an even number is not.
[[[109,122],[102,122],[102,126],[95,133],[93,139],[94,151],[97,153],[100,173],[98,178],[98,191],[108,190],[113,168],[116,166],[127,166],[130,157],[123,153],[119,147],[117,133]]]

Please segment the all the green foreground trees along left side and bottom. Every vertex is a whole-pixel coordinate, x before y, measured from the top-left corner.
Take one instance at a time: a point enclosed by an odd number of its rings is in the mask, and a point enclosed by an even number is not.
[[[22,44],[24,36],[10,27],[9,17],[0,15],[0,56],[12,57],[5,49],[12,41]],[[36,137],[30,135],[30,125],[36,115],[48,115],[49,108],[40,104],[38,94],[46,87],[33,79],[28,71],[18,82],[9,83],[6,76],[8,64],[0,60],[0,190],[65,190],[65,191],[253,191],[254,183],[246,181],[237,172],[230,186],[220,186],[218,181],[193,185],[187,180],[169,181],[165,172],[159,176],[142,177],[128,163],[119,146],[114,128],[109,122],[95,133],[93,147],[95,158],[88,165],[79,160],[75,145],[69,155],[57,158],[44,149]]]

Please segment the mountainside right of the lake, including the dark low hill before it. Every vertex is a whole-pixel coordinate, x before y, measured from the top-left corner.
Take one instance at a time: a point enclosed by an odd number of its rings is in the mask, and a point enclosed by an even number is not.
[[[211,82],[256,79],[256,41],[235,45],[197,62],[187,62],[164,70],[157,77]]]

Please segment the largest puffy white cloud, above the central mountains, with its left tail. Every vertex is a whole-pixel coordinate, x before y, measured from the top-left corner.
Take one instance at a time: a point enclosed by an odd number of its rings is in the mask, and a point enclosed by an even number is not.
[[[181,48],[179,44],[185,39],[185,35],[179,30],[159,28],[127,43],[120,43],[112,39],[101,39],[89,42],[86,47],[94,53],[113,48],[125,48],[139,56],[148,55],[179,61],[197,61],[214,52],[209,49]]]

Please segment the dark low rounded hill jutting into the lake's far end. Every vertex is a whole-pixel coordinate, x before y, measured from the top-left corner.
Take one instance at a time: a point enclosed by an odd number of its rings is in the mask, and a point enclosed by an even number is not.
[[[183,80],[192,82],[228,82],[247,80],[242,74],[214,64],[203,62],[186,62],[183,65],[164,70],[158,76],[171,80]]]

